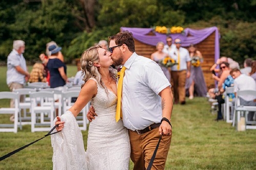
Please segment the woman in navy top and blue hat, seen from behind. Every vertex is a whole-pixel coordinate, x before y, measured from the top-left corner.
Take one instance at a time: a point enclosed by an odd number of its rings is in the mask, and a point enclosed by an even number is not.
[[[67,77],[67,67],[66,65],[58,59],[58,54],[61,47],[57,45],[50,45],[49,50],[49,60],[47,67],[50,71],[50,87],[60,87],[64,86],[68,80]]]

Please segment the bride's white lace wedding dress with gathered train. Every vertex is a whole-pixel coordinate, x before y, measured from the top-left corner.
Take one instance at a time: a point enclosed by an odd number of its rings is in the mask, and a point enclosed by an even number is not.
[[[51,135],[53,169],[129,169],[130,139],[122,121],[116,123],[117,96],[111,90],[106,93],[98,83],[97,87],[97,95],[91,102],[98,116],[89,125],[87,152],[81,146],[82,134],[75,117],[67,111],[61,116],[65,127],[60,133]]]

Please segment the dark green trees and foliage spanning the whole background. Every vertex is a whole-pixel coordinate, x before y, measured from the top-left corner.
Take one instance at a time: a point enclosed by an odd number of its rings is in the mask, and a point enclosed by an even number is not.
[[[0,2],[0,60],[6,61],[14,39],[26,42],[25,57],[37,60],[46,43],[62,46],[67,62],[120,27],[150,28],[217,26],[221,33],[221,56],[240,63],[255,58],[255,0],[92,0],[95,27],[88,28],[84,2],[45,0],[41,2]]]

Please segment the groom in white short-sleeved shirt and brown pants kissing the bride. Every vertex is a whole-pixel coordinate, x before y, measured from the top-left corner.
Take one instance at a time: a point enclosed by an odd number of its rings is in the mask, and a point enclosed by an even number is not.
[[[169,121],[173,93],[169,81],[157,63],[135,53],[132,33],[124,31],[109,37],[109,40],[114,64],[126,68],[121,115],[124,127],[129,129],[134,169],[146,169],[161,133],[163,136],[152,169],[164,169],[172,139]],[[87,117],[92,121],[95,113],[90,110]]]

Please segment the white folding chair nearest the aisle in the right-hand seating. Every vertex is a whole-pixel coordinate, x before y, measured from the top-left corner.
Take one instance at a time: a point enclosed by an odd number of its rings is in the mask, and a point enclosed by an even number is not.
[[[227,123],[232,123],[232,114],[233,114],[233,104],[229,101],[228,94],[234,92],[234,87],[226,87],[225,88],[225,104],[224,104],[224,112],[223,116]],[[231,115],[230,115],[231,114]]]

